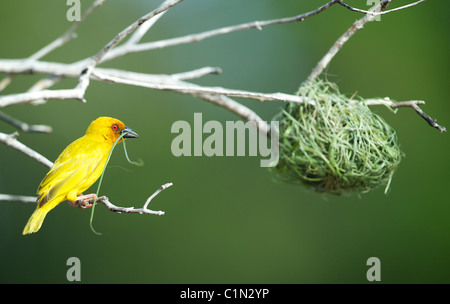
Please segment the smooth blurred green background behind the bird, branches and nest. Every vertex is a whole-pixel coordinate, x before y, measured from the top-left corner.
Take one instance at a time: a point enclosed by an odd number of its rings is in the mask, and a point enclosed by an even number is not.
[[[0,58],[27,57],[61,35],[71,25],[65,2],[2,1]],[[83,0],[82,10],[92,2]],[[91,56],[160,2],[108,0],[81,25],[77,39],[43,60],[70,63]],[[294,16],[325,2],[186,0],[143,41]],[[366,1],[348,3],[369,8]],[[381,16],[338,53],[328,79],[349,94],[425,100],[423,110],[449,127],[449,12],[442,1],[427,1]],[[102,66],[147,73],[217,66],[223,74],[195,83],[293,93],[360,17],[336,5],[301,23],[128,55]],[[19,75],[2,93],[23,92],[40,78]],[[75,84],[68,79],[54,88]],[[175,121],[192,123],[194,112],[203,113],[204,122],[239,119],[202,100],[94,81],[86,98],[86,104],[52,100],[2,111],[51,125],[51,134],[21,133],[19,140],[52,161],[98,116],[123,120],[140,135],[127,142],[128,153],[145,166],[128,164],[119,146],[101,192],[120,206],[141,207],[160,185],[173,182],[150,205],[166,214],[116,214],[98,205],[94,227],[103,235],[97,236],[89,228],[90,210],[63,203],[37,234],[22,236],[34,205],[0,202],[0,282],[65,283],[66,261],[78,257],[83,283],[366,283],[372,256],[381,261],[383,283],[450,282],[449,137],[412,109],[393,114],[373,108],[398,131],[406,154],[389,193],[380,188],[337,197],[273,182],[259,167],[260,157],[174,157]],[[239,101],[265,120],[283,106]],[[0,130],[14,128],[0,121]],[[4,145],[0,155],[0,193],[34,195],[47,168]]]

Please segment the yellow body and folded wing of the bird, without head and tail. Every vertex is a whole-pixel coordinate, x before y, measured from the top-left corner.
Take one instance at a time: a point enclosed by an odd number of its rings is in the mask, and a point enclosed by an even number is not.
[[[37,191],[40,206],[58,196],[65,200],[69,192],[80,194],[100,176],[109,151],[82,139],[67,146],[42,180]]]

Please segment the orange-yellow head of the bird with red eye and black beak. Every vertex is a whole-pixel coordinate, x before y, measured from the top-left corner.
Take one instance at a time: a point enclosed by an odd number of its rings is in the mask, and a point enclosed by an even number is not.
[[[86,131],[88,136],[96,136],[113,144],[120,135],[124,138],[136,138],[137,133],[125,126],[123,122],[112,117],[99,117],[89,125]],[[122,141],[122,139],[120,139]]]

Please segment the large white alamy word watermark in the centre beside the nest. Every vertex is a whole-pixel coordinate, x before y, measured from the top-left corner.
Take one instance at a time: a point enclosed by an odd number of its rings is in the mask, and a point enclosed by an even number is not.
[[[265,123],[265,122],[264,122]],[[261,167],[278,164],[278,121],[270,122],[268,136],[258,132],[255,122],[226,121],[225,126],[215,120],[203,123],[202,113],[194,113],[193,127],[184,120],[172,124],[171,132],[178,134],[171,144],[174,156],[248,156],[265,157]]]

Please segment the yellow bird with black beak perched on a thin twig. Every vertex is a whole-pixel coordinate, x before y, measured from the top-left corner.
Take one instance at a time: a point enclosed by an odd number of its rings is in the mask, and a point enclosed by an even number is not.
[[[120,120],[99,117],[89,125],[83,137],[64,149],[39,185],[38,205],[23,234],[37,232],[47,213],[59,203],[65,200],[75,202],[81,198],[79,195],[102,174],[109,152],[122,134],[123,138],[138,137]],[[90,197],[95,197],[95,194]]]

